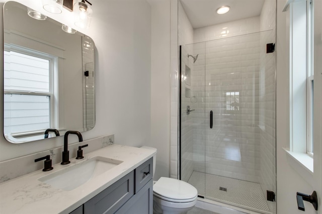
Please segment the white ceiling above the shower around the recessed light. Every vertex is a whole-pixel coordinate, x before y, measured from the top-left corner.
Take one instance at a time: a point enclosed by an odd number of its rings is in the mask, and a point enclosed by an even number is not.
[[[194,29],[234,20],[257,17],[261,14],[264,0],[180,0]],[[218,15],[216,10],[229,6],[230,11]]]

